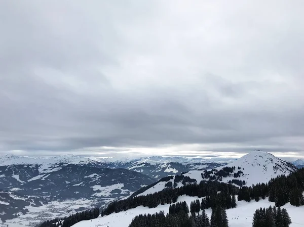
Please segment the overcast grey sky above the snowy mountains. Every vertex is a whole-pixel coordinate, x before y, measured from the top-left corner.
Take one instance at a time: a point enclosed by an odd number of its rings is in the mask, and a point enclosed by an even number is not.
[[[0,154],[304,157],[303,9],[1,1]]]

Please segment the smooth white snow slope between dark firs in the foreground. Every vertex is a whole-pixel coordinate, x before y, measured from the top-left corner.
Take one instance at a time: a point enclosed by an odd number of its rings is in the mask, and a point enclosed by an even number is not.
[[[198,199],[198,197],[180,196],[178,197],[177,202],[186,201],[188,206],[190,206],[190,203],[196,199]],[[274,205],[275,204],[273,202],[269,202],[267,198],[265,200],[260,200],[259,202],[251,201],[250,203],[245,201],[237,201],[236,208],[226,210],[229,220],[229,227],[251,227],[253,213],[256,209],[260,207],[267,208]],[[167,214],[169,212],[169,206],[170,204],[159,205],[158,207],[151,209],[148,207],[139,206],[124,212],[112,213],[108,216],[93,220],[81,221],[74,224],[73,227],[128,227],[132,219],[138,214],[153,214],[161,210]],[[290,227],[300,227],[304,225],[304,206],[295,207],[287,203],[282,208],[286,208],[291,217],[293,223],[290,225]],[[211,208],[206,211],[209,218],[211,216],[211,212]]]

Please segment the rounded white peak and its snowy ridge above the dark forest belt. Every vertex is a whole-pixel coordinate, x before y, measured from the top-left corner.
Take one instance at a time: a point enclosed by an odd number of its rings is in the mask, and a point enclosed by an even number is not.
[[[181,176],[161,179],[157,184],[145,187],[136,196],[147,195],[163,190],[165,187],[181,187],[185,184],[199,184],[202,180],[218,180],[238,186],[251,186],[267,183],[278,175],[288,175],[296,171],[296,167],[278,157],[263,151],[253,151],[225,166],[209,170],[191,170]],[[171,183],[169,183],[171,181]]]

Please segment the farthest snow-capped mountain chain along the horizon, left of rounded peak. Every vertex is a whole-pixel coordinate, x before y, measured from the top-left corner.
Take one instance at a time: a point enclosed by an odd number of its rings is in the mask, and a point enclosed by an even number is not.
[[[76,155],[62,155],[55,157],[24,157],[16,155],[0,156],[0,166],[37,165],[39,173],[52,172],[60,166],[75,164],[96,168],[123,168],[140,172],[156,180],[173,174],[196,169],[211,169],[231,162],[230,159],[203,159],[176,157],[141,157],[141,158],[95,158]],[[1,187],[1,184],[0,184]]]

